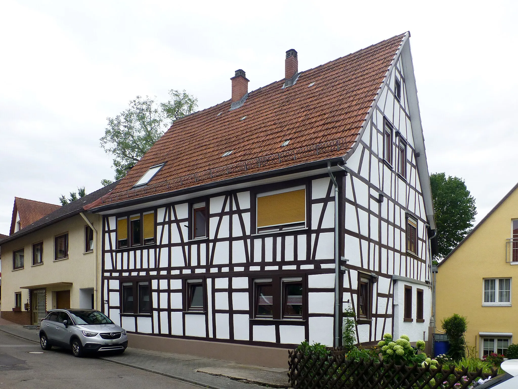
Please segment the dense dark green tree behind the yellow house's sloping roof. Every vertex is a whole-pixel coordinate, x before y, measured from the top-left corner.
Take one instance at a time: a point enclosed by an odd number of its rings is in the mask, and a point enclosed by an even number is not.
[[[430,175],[430,185],[434,198],[438,257],[444,258],[473,227],[477,214],[475,199],[462,178],[446,178],[444,173],[434,173]]]

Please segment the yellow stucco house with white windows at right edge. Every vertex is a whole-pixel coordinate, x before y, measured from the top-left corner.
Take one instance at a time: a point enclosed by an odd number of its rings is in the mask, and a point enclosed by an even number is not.
[[[518,342],[518,184],[439,263],[436,321],[468,318],[466,342],[479,356]],[[513,306],[514,302],[514,306]]]

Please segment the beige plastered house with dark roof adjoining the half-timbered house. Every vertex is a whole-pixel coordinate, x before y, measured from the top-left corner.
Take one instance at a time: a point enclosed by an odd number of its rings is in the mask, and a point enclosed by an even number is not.
[[[100,306],[101,234],[97,231],[102,230],[102,218],[83,207],[115,185],[61,206],[0,242],[2,318],[39,324],[49,309]]]

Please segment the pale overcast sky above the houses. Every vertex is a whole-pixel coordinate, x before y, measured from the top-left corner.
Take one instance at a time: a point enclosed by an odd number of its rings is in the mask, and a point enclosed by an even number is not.
[[[418,6],[417,4],[426,4]],[[59,203],[113,178],[107,117],[185,89],[199,109],[410,31],[430,173],[466,180],[480,220],[518,181],[516,2],[0,3],[0,233],[15,196]],[[516,215],[514,215],[516,216]]]

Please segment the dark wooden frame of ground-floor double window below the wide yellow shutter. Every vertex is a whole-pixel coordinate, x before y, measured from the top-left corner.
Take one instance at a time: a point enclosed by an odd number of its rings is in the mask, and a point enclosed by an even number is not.
[[[250,288],[253,294],[250,296],[250,307],[253,310],[253,319],[256,321],[282,321],[282,322],[301,322],[305,321],[308,316],[308,282],[305,274],[269,274],[266,278],[251,279]],[[300,316],[284,315],[284,284],[301,283],[302,284],[302,314]],[[257,286],[271,284],[272,289],[272,315],[257,315],[257,305],[259,296]]]

